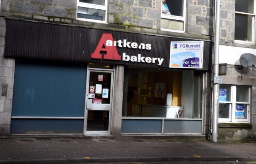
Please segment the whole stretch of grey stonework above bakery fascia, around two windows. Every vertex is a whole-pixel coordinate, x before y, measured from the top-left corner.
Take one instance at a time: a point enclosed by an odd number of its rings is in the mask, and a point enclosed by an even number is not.
[[[92,28],[212,39],[213,0],[187,0],[185,33],[160,30],[161,0],[108,0],[107,24],[76,20],[76,0],[2,0],[0,15]]]

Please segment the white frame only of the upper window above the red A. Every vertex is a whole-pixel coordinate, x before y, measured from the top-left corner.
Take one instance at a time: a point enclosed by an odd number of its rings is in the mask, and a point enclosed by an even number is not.
[[[98,5],[98,4],[88,4],[88,3],[83,3],[79,2],[77,0],[77,5],[76,5],[76,20],[80,21],[87,21],[87,22],[97,22],[97,23],[107,23],[107,0],[105,1],[105,5]],[[99,10],[105,10],[105,21],[100,21],[100,20],[95,20],[95,19],[85,19],[85,18],[77,18],[77,13],[78,13],[78,7],[86,7],[86,8],[93,8],[93,9],[99,9]]]

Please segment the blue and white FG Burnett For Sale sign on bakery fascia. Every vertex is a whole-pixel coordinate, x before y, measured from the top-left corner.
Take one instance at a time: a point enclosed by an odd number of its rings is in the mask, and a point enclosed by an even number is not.
[[[203,41],[171,41],[170,68],[203,68]]]

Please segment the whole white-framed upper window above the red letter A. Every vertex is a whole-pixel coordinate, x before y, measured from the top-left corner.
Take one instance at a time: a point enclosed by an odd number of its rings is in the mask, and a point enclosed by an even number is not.
[[[107,0],[77,0],[77,20],[107,22]]]

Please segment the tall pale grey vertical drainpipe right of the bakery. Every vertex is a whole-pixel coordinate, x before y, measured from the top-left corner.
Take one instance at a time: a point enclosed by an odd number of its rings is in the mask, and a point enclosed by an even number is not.
[[[220,34],[220,0],[215,0],[215,39],[214,39],[214,78],[219,75],[219,34]],[[213,131],[212,141],[218,142],[218,106],[219,106],[219,85],[214,83],[213,89]]]

